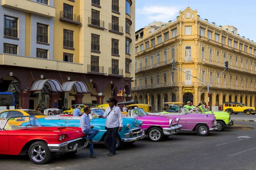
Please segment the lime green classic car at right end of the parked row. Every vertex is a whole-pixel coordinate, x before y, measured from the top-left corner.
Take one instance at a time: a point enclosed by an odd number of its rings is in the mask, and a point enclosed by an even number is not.
[[[225,129],[226,126],[232,126],[233,124],[233,120],[230,119],[230,115],[227,112],[224,111],[208,111],[204,105],[198,106],[198,108],[200,109],[200,111],[202,113],[206,113],[206,114],[214,114],[217,120],[217,124],[219,127],[218,131],[223,131]]]

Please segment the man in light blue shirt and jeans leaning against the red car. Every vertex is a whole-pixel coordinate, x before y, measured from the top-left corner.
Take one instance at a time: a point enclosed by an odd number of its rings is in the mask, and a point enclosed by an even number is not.
[[[84,114],[81,116],[80,119],[80,127],[85,135],[87,135],[87,139],[89,142],[89,148],[90,148],[90,157],[96,158],[93,155],[93,137],[96,136],[99,133],[98,129],[93,129],[94,126],[90,125],[90,107],[84,108]]]

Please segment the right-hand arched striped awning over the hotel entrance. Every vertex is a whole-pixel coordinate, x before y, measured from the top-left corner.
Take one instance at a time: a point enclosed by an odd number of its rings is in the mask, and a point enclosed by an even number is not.
[[[64,82],[61,87],[64,92],[71,91],[72,87],[74,87],[76,93],[89,93],[87,86],[81,81]]]

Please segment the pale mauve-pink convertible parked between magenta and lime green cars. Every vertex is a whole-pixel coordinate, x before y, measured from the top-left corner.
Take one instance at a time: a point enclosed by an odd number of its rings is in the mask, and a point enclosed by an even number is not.
[[[183,126],[181,130],[196,131],[199,136],[207,136],[210,131],[218,130],[218,125],[213,114],[192,114],[187,108],[180,108],[177,113],[160,112],[148,114],[177,119],[179,124]]]

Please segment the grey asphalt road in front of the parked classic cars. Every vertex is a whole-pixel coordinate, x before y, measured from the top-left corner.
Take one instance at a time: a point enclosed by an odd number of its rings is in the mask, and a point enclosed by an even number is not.
[[[235,122],[256,127],[256,122]],[[147,138],[123,146],[108,157],[104,144],[94,144],[97,159],[86,148],[75,156],[56,156],[49,164],[33,164],[28,156],[0,156],[1,170],[256,170],[256,130],[225,130],[209,136],[182,132],[162,142]],[[239,138],[239,136],[249,136]]]

